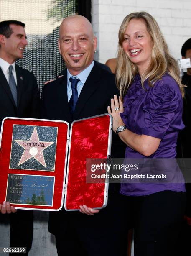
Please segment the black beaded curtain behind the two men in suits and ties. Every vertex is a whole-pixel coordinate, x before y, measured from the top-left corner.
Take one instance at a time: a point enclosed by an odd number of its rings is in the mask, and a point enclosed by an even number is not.
[[[17,64],[33,72],[40,92],[44,82],[66,68],[57,42],[61,20],[72,14],[75,0],[0,0],[0,21],[25,23],[28,46]]]

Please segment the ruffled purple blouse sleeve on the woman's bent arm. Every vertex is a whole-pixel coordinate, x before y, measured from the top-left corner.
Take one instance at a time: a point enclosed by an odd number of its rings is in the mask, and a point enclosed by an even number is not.
[[[181,92],[174,80],[173,84],[159,81],[149,96],[143,107],[142,134],[162,139],[169,126],[177,131],[183,129]]]

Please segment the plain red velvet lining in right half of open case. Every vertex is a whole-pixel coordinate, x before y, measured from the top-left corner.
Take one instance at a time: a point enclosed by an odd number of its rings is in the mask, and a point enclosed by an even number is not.
[[[77,121],[72,126],[66,208],[101,208],[104,183],[86,183],[86,159],[107,158],[109,115]]]

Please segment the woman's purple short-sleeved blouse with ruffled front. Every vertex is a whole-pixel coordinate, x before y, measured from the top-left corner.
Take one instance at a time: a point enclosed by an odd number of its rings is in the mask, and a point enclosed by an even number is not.
[[[183,101],[178,84],[166,73],[153,87],[148,85],[147,80],[144,87],[145,90],[141,85],[140,75],[137,74],[124,98],[124,112],[120,114],[121,118],[127,129],[133,133],[161,139],[157,151],[149,158],[173,159],[176,156],[178,131],[184,128]],[[125,158],[140,159],[145,156],[127,146]],[[183,180],[180,172],[177,179]],[[121,193],[124,195],[149,195],[163,190],[185,191],[185,186],[174,181],[164,184],[121,184]]]

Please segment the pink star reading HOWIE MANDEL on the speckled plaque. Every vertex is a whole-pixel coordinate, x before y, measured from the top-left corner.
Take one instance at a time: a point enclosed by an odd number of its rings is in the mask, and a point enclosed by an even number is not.
[[[22,148],[24,148],[23,155],[20,158],[18,166],[23,164],[28,159],[34,157],[40,164],[46,168],[43,150],[53,144],[53,142],[39,141],[36,127],[33,130],[30,141],[15,140]]]

